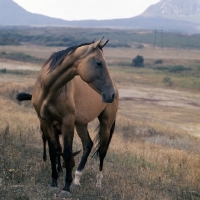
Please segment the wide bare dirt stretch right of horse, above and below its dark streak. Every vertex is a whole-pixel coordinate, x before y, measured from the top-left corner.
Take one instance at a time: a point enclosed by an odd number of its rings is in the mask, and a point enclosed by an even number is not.
[[[120,88],[120,114],[154,121],[200,136],[200,93],[151,88]]]

